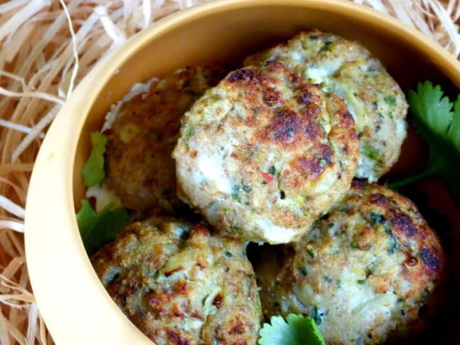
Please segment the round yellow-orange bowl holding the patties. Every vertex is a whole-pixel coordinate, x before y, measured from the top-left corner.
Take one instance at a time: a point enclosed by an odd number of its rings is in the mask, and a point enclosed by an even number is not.
[[[459,62],[435,42],[347,1],[212,1],[142,31],[105,57],[76,88],[47,133],[30,182],[25,216],[28,269],[40,312],[57,344],[151,344],[110,300],[76,226],[90,132],[100,127],[110,104],[133,83],[187,64],[237,62],[309,28],[359,40],[404,90],[425,79],[446,89],[460,88]],[[403,169],[414,163],[413,154],[404,152]]]

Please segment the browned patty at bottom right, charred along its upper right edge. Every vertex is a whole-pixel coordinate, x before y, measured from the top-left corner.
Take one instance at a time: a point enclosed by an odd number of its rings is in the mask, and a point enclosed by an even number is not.
[[[266,247],[256,264],[265,317],[314,317],[328,344],[381,344],[427,325],[444,254],[413,203],[354,182],[301,241]]]

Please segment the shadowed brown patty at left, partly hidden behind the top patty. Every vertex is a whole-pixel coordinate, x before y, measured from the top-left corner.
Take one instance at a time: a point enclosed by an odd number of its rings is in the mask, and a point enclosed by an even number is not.
[[[183,207],[171,158],[180,117],[224,76],[219,66],[186,67],[155,79],[148,92],[122,103],[112,128],[105,131],[105,170],[108,188],[124,206],[157,214],[174,214]]]

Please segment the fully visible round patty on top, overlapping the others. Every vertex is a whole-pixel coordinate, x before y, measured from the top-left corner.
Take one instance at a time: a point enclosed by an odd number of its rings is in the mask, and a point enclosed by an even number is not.
[[[270,243],[298,239],[342,198],[357,156],[343,100],[280,62],[208,90],[173,152],[185,201],[224,235]]]

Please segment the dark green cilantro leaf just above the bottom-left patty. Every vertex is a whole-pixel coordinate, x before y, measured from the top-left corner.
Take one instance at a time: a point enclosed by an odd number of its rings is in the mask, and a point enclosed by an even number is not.
[[[128,223],[130,215],[126,209],[114,209],[110,203],[99,212],[93,210],[88,200],[81,200],[81,210],[76,214],[81,239],[88,255],[115,240],[117,233]]]

